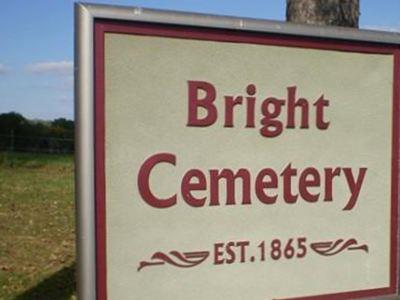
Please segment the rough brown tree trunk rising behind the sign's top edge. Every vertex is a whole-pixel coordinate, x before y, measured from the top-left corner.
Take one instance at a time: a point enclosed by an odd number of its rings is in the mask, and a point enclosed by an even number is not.
[[[286,21],[358,28],[359,0],[286,0]]]

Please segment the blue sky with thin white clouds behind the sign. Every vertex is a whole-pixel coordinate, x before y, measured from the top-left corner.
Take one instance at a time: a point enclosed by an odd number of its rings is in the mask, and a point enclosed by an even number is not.
[[[0,113],[73,119],[73,0],[0,0]],[[92,1],[90,1],[92,2]],[[285,0],[96,3],[285,19]],[[361,0],[360,28],[400,32],[400,0]]]

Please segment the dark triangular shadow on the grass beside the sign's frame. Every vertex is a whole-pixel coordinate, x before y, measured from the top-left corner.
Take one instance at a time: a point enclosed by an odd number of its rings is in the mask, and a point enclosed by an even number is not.
[[[76,288],[75,269],[76,263],[74,262],[39,282],[38,285],[25,291],[14,300],[70,299]]]

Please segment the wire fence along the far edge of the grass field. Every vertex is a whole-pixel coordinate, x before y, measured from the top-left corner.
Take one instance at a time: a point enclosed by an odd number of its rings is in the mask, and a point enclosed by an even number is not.
[[[0,151],[68,154],[74,153],[74,139],[0,134]]]

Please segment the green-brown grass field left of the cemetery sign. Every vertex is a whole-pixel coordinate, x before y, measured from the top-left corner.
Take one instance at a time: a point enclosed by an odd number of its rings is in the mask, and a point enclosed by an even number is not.
[[[0,152],[0,299],[74,299],[71,155]]]

